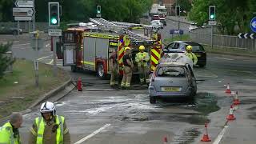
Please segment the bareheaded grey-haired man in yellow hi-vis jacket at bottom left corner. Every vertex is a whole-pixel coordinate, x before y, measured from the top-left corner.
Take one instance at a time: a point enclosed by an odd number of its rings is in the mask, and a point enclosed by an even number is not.
[[[0,143],[21,144],[18,128],[22,126],[22,114],[13,113],[10,121],[0,127]]]

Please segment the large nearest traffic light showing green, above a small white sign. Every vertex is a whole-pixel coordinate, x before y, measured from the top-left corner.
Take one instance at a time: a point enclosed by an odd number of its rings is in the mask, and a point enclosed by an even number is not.
[[[59,26],[59,3],[48,2],[49,26]]]

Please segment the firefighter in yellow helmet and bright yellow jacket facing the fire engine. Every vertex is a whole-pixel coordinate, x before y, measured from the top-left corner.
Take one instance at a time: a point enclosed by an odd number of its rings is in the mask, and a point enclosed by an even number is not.
[[[149,71],[150,67],[148,66],[148,62],[150,60],[150,56],[145,52],[145,46],[139,46],[139,52],[136,54],[135,61],[138,64],[138,72],[141,85],[150,83],[149,79]]]

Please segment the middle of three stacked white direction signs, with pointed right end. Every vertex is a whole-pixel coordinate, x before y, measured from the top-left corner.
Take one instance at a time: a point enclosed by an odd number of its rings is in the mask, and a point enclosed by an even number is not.
[[[35,13],[34,8],[26,8],[26,7],[13,8],[14,17],[32,17],[34,13]]]

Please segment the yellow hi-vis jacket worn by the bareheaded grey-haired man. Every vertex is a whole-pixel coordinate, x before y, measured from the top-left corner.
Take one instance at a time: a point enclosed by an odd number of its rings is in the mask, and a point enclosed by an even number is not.
[[[11,126],[10,122],[6,122],[0,127],[0,144],[21,144],[19,138],[19,135],[14,138],[13,126]]]

